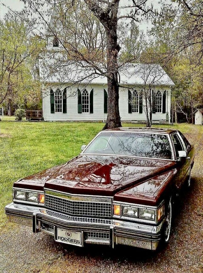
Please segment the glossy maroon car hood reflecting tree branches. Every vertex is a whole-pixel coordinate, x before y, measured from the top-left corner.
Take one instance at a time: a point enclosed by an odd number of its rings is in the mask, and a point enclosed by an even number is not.
[[[14,183],[35,184],[36,188],[65,193],[113,196],[130,186],[145,182],[174,168],[175,162],[148,158],[79,155],[56,166]],[[25,187],[25,186],[24,186]]]

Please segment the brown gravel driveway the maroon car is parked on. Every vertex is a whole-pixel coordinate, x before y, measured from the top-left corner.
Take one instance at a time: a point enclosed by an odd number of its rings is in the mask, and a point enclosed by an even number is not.
[[[0,235],[0,272],[203,272],[203,136],[196,128],[187,134],[197,153],[191,189],[185,189],[178,198],[170,243],[165,249],[77,248],[16,225]]]

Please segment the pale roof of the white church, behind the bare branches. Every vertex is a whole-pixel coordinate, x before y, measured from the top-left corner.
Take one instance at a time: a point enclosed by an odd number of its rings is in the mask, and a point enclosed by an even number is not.
[[[99,70],[106,72],[102,64]],[[107,77],[84,62],[63,64],[53,59],[40,60],[40,78],[46,83],[107,84]],[[164,69],[157,64],[126,63],[119,68],[120,85],[174,85]]]

